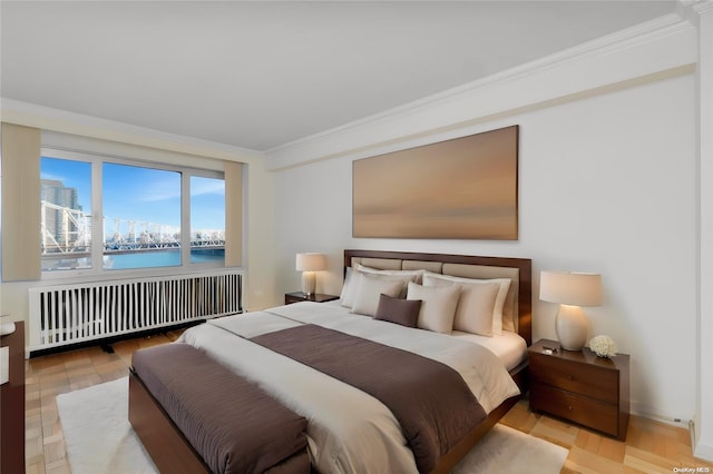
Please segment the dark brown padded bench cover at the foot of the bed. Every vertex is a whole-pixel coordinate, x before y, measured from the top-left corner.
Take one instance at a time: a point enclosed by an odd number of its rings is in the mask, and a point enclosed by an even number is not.
[[[310,472],[306,419],[204,352],[166,344],[133,366],[212,472]]]

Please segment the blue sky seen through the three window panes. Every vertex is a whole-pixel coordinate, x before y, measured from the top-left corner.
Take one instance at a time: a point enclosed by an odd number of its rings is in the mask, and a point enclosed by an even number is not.
[[[41,178],[76,188],[79,204],[91,209],[91,165],[42,157]],[[179,227],[180,174],[104,164],[102,206],[108,219],[136,220]],[[192,177],[192,228],[225,229],[225,186],[222,179]],[[114,223],[107,221],[113,229]]]

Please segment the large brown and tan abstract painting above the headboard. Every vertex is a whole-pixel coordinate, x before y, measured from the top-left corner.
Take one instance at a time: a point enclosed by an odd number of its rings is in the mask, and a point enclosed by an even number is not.
[[[354,237],[518,238],[511,126],[353,161]]]

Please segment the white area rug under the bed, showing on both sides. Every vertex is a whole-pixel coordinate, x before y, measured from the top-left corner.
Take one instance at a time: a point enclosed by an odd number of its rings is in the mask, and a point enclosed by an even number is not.
[[[67,456],[74,474],[156,473],[128,422],[128,378],[57,396]],[[559,473],[567,450],[496,425],[453,474]]]

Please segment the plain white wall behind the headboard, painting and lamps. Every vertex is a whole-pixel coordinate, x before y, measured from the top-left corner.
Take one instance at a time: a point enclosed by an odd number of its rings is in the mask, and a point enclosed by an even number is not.
[[[275,175],[279,286],[299,289],[297,251],[325,251],[318,292],[339,294],[341,251],[375,248],[533,258],[539,270],[603,275],[593,335],[632,355],[635,412],[691,419],[695,406],[694,78],[684,75],[460,130],[520,126],[518,241],[351,237],[352,157]],[[554,337],[534,302],[534,337]]]

